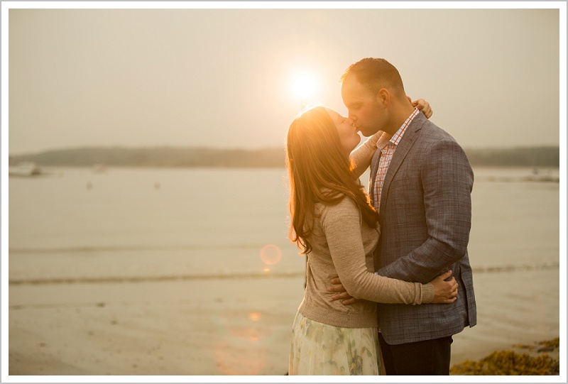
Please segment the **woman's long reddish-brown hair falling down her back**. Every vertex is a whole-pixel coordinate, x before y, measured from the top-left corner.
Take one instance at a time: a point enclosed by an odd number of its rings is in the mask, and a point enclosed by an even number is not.
[[[290,240],[302,254],[310,253],[315,204],[334,205],[350,197],[372,228],[377,213],[368,202],[363,186],[354,173],[332,118],[323,106],[315,106],[298,116],[288,130],[286,165],[290,177],[292,216]]]

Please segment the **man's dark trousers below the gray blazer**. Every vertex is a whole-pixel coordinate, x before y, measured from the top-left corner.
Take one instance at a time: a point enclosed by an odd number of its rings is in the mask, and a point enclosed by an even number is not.
[[[383,339],[381,332],[378,333],[387,375],[449,375],[452,341],[452,336],[447,336],[442,339],[390,345]]]

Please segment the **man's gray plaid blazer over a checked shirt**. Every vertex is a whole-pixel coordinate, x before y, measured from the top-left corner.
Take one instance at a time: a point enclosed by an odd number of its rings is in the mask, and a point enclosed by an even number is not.
[[[380,157],[377,150],[371,161],[371,198]],[[379,275],[422,283],[452,270],[458,298],[452,304],[378,304],[378,324],[388,344],[438,339],[476,324],[467,254],[473,183],[464,150],[417,114],[386,173],[375,267]]]

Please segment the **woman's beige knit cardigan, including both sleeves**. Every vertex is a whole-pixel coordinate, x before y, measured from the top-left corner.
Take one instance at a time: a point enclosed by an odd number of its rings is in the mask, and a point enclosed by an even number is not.
[[[359,167],[371,160],[377,135],[359,148],[355,158]],[[353,156],[353,154],[352,154]],[[298,311],[309,319],[336,327],[377,327],[376,302],[419,305],[432,302],[432,283],[405,282],[375,275],[373,251],[380,229],[371,228],[349,197],[337,205],[315,205],[316,218],[307,257],[306,289]],[[330,280],[339,276],[349,295],[359,300],[343,305],[327,292]]]

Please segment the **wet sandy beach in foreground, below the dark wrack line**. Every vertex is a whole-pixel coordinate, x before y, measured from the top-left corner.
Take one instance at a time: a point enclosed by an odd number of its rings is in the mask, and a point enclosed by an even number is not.
[[[479,324],[454,337],[452,364],[559,336],[557,268],[474,278]],[[9,375],[284,375],[302,289],[262,275],[11,285]]]

